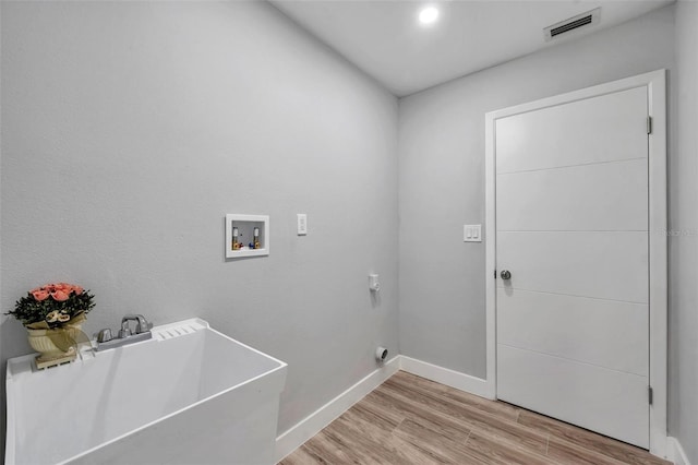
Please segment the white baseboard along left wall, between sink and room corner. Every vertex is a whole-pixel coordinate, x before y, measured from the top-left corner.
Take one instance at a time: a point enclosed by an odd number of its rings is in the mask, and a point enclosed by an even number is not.
[[[400,369],[400,356],[393,357],[383,367],[376,369],[364,379],[310,414],[294,427],[276,438],[276,460],[281,461],[300,448],[305,441],[317,434],[353,404],[361,401],[371,391],[383,384]]]

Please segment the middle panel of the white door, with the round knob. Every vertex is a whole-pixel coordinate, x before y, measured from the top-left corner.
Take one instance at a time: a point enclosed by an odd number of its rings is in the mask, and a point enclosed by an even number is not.
[[[497,287],[647,303],[646,231],[497,231]]]

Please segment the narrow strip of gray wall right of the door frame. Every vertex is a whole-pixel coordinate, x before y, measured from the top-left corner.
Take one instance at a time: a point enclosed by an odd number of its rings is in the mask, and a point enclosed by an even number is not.
[[[670,248],[670,431],[698,464],[698,3],[676,4]]]

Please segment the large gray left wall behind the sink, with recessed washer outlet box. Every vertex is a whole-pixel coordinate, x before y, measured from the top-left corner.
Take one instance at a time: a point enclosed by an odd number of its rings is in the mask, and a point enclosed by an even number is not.
[[[398,353],[394,96],[265,2],[2,2],[1,38],[3,311],[68,281],[91,332],[204,318],[289,363],[279,431]],[[226,262],[226,213],[270,255]]]

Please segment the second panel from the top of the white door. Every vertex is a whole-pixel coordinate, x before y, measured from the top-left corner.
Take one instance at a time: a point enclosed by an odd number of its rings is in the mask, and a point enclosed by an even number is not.
[[[501,175],[496,202],[498,230],[647,230],[647,158]]]

